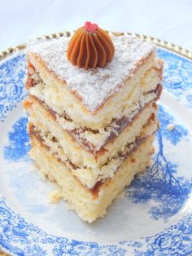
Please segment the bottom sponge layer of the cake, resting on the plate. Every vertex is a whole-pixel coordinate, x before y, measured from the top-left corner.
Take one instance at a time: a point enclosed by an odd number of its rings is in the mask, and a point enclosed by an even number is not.
[[[154,152],[154,135],[143,138],[116,170],[112,179],[99,181],[94,189],[88,189],[72,175],[59,157],[50,152],[35,133],[30,133],[30,137],[30,156],[37,163],[41,174],[58,183],[59,196],[68,201],[69,207],[89,223],[103,217],[111,201],[132,182],[134,176],[151,165],[151,155]]]

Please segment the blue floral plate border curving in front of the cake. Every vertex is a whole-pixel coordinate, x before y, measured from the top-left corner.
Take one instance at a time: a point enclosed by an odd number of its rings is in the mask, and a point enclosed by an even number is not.
[[[52,236],[15,214],[0,200],[0,245],[16,255],[190,255],[192,216],[189,214],[164,232],[140,241],[121,241],[116,245],[69,240]],[[48,248],[48,249],[47,249]]]

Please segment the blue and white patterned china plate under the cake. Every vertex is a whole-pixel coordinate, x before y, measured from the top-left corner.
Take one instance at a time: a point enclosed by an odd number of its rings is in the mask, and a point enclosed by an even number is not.
[[[158,48],[164,60],[154,164],[134,179],[105,218],[84,223],[64,201],[50,204],[28,157],[22,108],[24,51],[0,62],[0,247],[12,255],[192,254],[192,61]]]

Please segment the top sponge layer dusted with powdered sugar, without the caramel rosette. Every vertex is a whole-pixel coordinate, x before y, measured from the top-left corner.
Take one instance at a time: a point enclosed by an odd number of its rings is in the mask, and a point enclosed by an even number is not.
[[[150,42],[112,36],[116,51],[111,62],[85,71],[67,60],[70,39],[30,46],[27,51],[29,93],[64,117],[64,125],[70,126],[72,119],[72,128],[103,130],[154,98],[162,64]]]

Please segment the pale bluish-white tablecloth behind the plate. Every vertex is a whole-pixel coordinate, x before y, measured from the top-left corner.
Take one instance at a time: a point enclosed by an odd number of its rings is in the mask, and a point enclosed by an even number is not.
[[[1,0],[0,51],[43,34],[77,29],[86,20],[192,51],[191,0]]]

